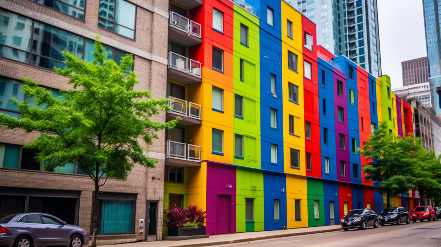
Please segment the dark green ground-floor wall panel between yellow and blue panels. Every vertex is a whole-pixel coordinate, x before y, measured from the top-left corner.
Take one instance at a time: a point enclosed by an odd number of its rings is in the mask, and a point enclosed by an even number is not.
[[[306,186],[308,191],[308,227],[325,225],[323,181],[308,178]],[[318,201],[318,218],[315,218],[314,215],[314,201]]]

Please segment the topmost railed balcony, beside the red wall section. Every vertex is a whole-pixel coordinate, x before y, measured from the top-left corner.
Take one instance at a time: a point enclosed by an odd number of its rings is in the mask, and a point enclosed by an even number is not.
[[[202,43],[201,24],[191,21],[173,11],[169,12],[168,37],[184,45],[192,46]]]

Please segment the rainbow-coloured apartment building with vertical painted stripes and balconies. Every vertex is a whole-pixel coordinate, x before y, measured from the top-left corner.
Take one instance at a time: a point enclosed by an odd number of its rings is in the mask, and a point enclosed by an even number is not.
[[[197,205],[207,234],[337,225],[379,212],[357,148],[387,120],[414,132],[413,109],[344,56],[284,0],[170,0],[164,209]],[[415,191],[392,198],[413,208]],[[167,229],[164,228],[164,234]]]

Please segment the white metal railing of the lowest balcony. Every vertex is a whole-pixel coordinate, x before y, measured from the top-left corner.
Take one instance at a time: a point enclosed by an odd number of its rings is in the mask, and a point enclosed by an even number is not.
[[[201,162],[201,147],[182,142],[167,141],[167,158]]]

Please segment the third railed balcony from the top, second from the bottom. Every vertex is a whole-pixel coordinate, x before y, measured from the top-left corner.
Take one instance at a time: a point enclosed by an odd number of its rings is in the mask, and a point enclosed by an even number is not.
[[[168,105],[172,107],[170,112],[167,112],[165,119],[173,120],[179,116],[182,120],[179,124],[186,126],[201,125],[201,105],[187,102],[175,97],[168,97]],[[188,106],[188,107],[187,107]]]

